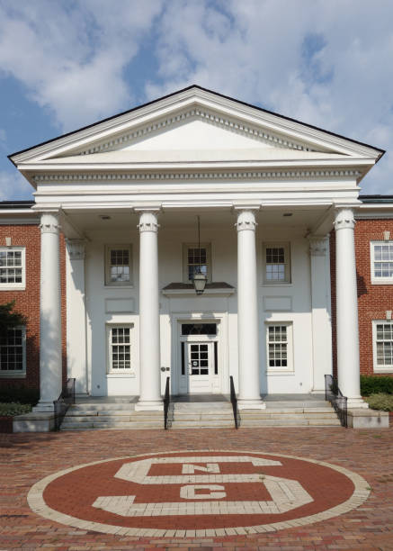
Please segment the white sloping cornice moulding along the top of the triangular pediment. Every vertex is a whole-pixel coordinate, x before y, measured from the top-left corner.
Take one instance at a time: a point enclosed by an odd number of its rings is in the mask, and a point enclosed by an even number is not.
[[[380,158],[381,152],[352,140],[345,140],[329,132],[317,130],[300,122],[290,121],[273,113],[266,113],[252,106],[239,104],[235,100],[221,97],[214,93],[190,88],[181,93],[172,95],[153,104],[124,113],[109,121],[101,122],[85,130],[74,132],[57,140],[42,144],[13,155],[15,164],[29,159],[43,159],[66,155],[76,149],[90,149],[99,142],[118,138],[130,130],[154,125],[157,120],[179,114],[192,109],[205,109],[215,113],[215,116],[236,119],[238,123],[245,123],[250,128],[256,126],[257,131],[264,131],[266,135],[280,136],[282,140],[294,144],[307,144],[309,149],[331,150],[346,155],[371,157],[374,161]],[[225,122],[224,122],[225,125]],[[284,147],[289,147],[284,146]],[[69,153],[68,153],[69,154]]]

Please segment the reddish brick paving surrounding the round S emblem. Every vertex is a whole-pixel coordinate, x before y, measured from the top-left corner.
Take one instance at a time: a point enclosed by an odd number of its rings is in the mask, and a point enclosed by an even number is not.
[[[393,429],[113,430],[0,435],[0,550],[306,549],[393,550]],[[62,469],[119,456],[227,449],[287,454],[361,474],[371,496],[344,515],[278,532],[214,538],[112,536],[70,528],[33,513],[31,485]]]

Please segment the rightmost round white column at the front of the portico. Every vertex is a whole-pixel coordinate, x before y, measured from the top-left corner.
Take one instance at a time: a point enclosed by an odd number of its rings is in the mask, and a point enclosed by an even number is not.
[[[338,386],[348,408],[368,407],[362,401],[359,364],[358,299],[352,209],[335,213],[335,293]]]

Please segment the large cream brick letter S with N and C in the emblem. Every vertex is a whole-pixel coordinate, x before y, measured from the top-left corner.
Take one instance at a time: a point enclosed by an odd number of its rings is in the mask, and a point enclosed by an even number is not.
[[[221,474],[223,463],[251,463],[255,466],[281,465],[280,461],[252,456],[186,456],[155,457],[121,466],[115,478],[130,483],[181,484],[179,497],[186,501],[135,503],[136,495],[114,495],[97,498],[93,506],[122,517],[160,517],[165,515],[200,514],[279,514],[306,505],[313,498],[297,480],[267,474]],[[182,465],[182,474],[151,476],[152,465]],[[261,483],[269,492],[270,501],[228,501],[226,483]],[[143,494],[143,492],[142,492]],[[214,500],[214,501],[213,501]],[[197,511],[198,510],[198,511]]]

